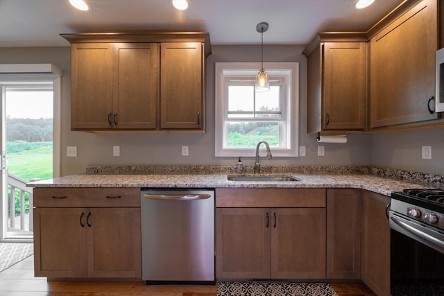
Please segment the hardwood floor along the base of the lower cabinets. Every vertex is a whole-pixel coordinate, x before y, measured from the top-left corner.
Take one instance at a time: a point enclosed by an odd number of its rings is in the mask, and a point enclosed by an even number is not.
[[[58,282],[34,277],[33,256],[0,272],[0,296],[216,296],[216,286],[146,286],[144,282]],[[331,284],[339,296],[375,295],[362,284]]]

